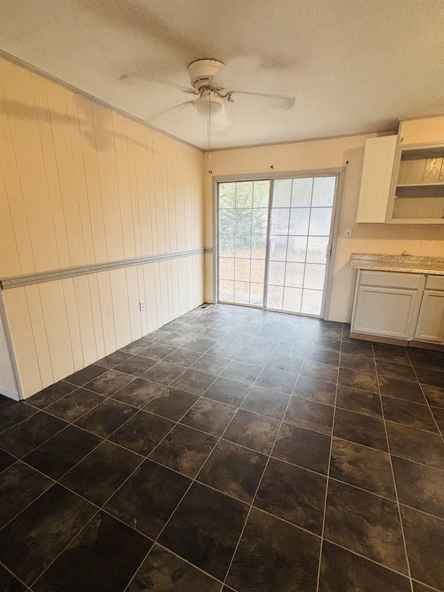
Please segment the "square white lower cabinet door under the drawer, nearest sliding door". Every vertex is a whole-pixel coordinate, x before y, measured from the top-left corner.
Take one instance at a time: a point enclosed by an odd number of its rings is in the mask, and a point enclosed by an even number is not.
[[[418,290],[359,286],[352,332],[409,340],[419,305]]]

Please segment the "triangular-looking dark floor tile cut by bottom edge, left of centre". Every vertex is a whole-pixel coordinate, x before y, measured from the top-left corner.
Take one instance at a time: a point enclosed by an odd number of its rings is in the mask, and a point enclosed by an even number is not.
[[[221,583],[167,549],[154,545],[140,566],[128,592],[220,592]]]

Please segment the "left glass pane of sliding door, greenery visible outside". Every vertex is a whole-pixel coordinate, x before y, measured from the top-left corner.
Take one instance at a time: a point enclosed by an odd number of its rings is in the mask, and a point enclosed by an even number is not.
[[[269,194],[268,180],[219,183],[221,302],[264,305]]]

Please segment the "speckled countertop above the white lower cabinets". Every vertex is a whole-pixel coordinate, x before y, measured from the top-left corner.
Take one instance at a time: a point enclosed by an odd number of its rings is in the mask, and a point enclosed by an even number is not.
[[[444,257],[352,253],[351,267],[355,269],[374,269],[375,271],[429,273],[433,276],[444,276]]]

